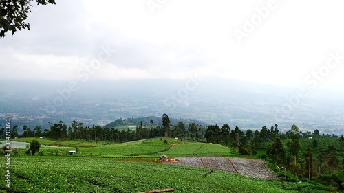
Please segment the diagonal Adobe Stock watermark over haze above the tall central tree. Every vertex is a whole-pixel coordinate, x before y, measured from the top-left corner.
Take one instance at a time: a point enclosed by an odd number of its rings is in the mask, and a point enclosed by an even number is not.
[[[173,111],[178,105],[187,105],[187,98],[189,93],[195,91],[200,85],[200,82],[204,80],[205,76],[195,73],[193,76],[188,76],[184,87],[178,89],[176,93],[171,94],[168,98],[164,99],[164,106]]]

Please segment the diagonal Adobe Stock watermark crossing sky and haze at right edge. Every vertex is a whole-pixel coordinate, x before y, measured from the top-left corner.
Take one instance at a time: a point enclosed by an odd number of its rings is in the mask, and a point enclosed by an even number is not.
[[[327,76],[330,75],[331,71],[334,71],[339,65],[344,65],[344,56],[339,56],[339,52],[329,53],[330,57],[327,58],[326,64],[321,65],[316,71],[310,72],[305,76],[305,84],[310,86],[310,89],[316,89],[320,82],[323,82]],[[275,118],[285,118],[287,115],[299,106],[302,99],[308,97],[308,91],[305,88],[299,88],[297,93],[286,98],[287,102],[284,103],[280,108],[275,109]]]

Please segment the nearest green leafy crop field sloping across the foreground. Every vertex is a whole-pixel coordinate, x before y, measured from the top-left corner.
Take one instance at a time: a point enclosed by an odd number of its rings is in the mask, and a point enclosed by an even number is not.
[[[311,183],[282,183],[222,171],[116,159],[12,157],[8,192],[321,192]],[[1,173],[5,168],[1,167]],[[0,182],[5,187],[4,181]],[[319,187],[318,187],[319,188]]]

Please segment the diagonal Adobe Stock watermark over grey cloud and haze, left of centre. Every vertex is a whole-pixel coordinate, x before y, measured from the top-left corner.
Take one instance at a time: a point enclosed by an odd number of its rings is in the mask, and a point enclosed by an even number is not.
[[[76,77],[80,78],[81,82],[86,82],[89,80],[89,77],[94,75],[98,69],[100,69],[109,58],[116,53],[116,49],[111,49],[109,45],[104,47],[100,46],[100,52],[98,57],[94,60],[91,60],[88,65],[83,65],[76,71]],[[63,106],[64,102],[69,100],[72,97],[72,93],[78,91],[79,86],[78,82],[70,81],[65,89],[56,89],[57,95],[50,100],[45,101],[45,109],[50,109],[56,111],[57,107]]]

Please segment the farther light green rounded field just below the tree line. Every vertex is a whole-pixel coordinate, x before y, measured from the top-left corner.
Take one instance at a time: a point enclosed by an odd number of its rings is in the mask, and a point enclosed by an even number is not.
[[[30,138],[17,139],[17,141],[32,141]],[[206,156],[206,155],[222,155],[233,156],[230,153],[230,148],[219,144],[205,144],[199,142],[184,142],[178,139],[166,139],[167,144],[163,144],[163,138],[148,139],[131,141],[122,144],[109,144],[105,145],[103,142],[85,142],[81,140],[71,141],[53,141],[48,139],[38,139],[41,144],[49,146],[59,146],[59,148],[41,148],[43,153],[47,155],[48,150],[58,151],[63,150],[68,152],[69,150],[75,150],[78,147],[79,152],[76,156],[89,157],[150,157],[158,158],[162,154],[166,154],[169,157],[185,157],[185,156]],[[173,146],[173,144],[176,144]],[[173,148],[171,148],[173,146]],[[20,155],[24,155],[24,151],[20,152]]]

